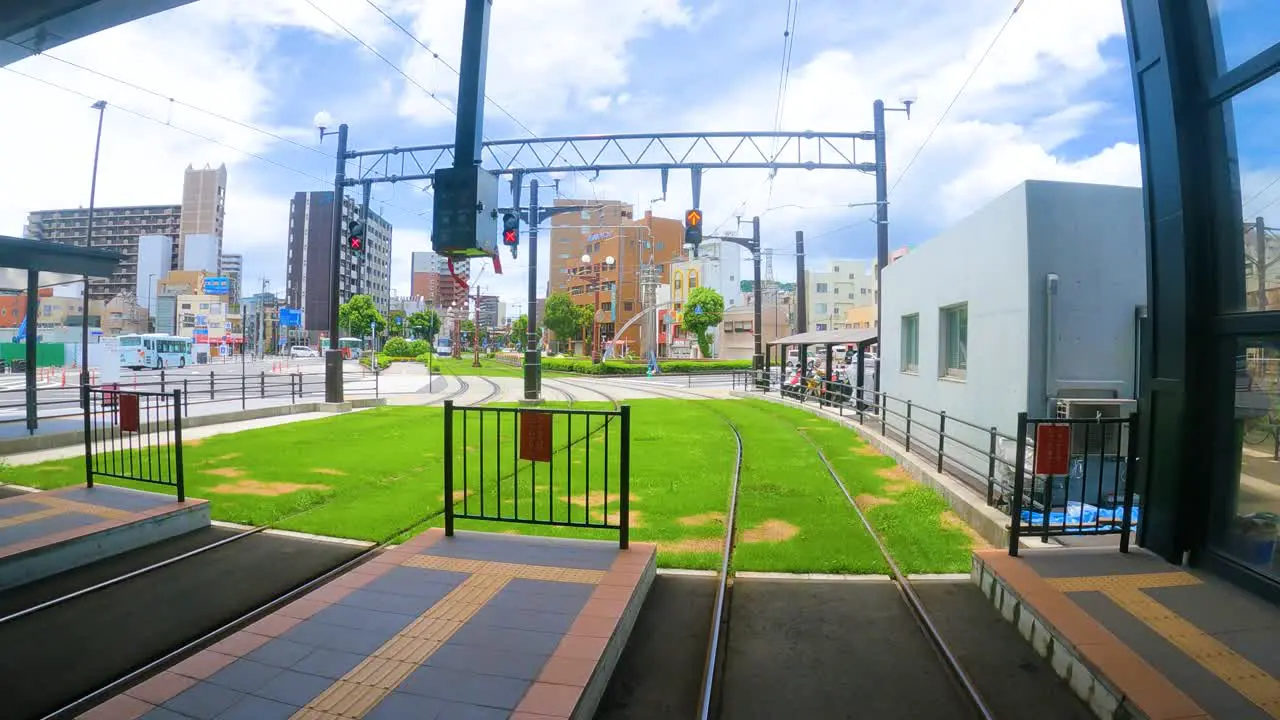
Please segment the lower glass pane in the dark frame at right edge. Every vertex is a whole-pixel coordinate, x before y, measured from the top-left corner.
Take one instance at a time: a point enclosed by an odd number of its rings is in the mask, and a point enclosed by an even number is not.
[[[1216,543],[1231,557],[1280,578],[1280,336],[1240,338],[1235,356],[1238,462],[1220,505]]]

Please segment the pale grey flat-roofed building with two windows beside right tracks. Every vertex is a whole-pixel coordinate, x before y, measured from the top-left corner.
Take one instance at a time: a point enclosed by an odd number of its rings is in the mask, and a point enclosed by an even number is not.
[[[1119,413],[1135,396],[1147,302],[1137,187],[1024,182],[890,264],[883,283],[891,406],[910,400],[1014,434],[1021,411],[1055,416],[1091,400]]]

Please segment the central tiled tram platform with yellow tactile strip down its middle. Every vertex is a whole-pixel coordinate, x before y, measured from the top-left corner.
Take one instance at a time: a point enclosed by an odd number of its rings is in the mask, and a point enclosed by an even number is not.
[[[589,719],[655,547],[431,529],[84,719]]]

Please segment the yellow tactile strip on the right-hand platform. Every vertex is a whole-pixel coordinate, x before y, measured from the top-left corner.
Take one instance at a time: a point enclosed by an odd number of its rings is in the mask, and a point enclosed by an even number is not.
[[[1263,712],[1280,719],[1280,682],[1143,592],[1146,588],[1201,584],[1201,580],[1194,575],[1189,573],[1144,573],[1092,578],[1051,578],[1048,583],[1062,592],[1101,592],[1111,602],[1169,641],[1187,657],[1194,660],[1201,667],[1257,705]]]

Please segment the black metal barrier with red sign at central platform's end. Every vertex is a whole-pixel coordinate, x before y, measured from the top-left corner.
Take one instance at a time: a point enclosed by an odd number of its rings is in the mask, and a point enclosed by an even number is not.
[[[444,533],[457,519],[617,530],[627,547],[631,409],[444,402]]]

